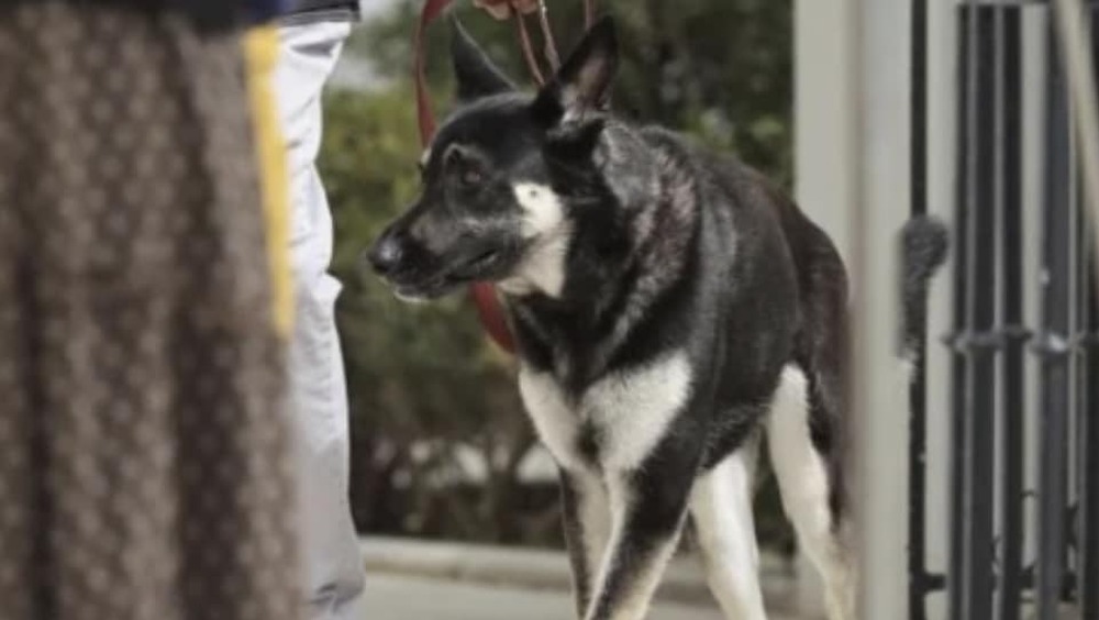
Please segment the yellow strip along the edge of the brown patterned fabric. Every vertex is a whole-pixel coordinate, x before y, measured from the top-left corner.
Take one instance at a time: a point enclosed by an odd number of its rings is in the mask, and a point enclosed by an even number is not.
[[[278,59],[278,31],[274,26],[249,30],[245,34],[244,48],[248,103],[256,136],[260,193],[267,228],[275,328],[280,335],[289,336],[293,324],[289,254],[290,180],[286,144],[271,87],[271,75]]]

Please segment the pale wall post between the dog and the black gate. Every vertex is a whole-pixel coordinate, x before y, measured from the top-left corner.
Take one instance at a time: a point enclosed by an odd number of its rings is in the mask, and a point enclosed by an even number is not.
[[[797,195],[852,275],[851,455],[861,609],[907,617],[907,384],[897,364],[898,232],[910,211],[910,0],[800,0]]]

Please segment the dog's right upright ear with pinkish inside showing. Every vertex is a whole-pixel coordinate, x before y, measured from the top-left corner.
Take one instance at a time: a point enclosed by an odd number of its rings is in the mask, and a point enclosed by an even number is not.
[[[535,117],[547,126],[562,120],[582,118],[606,110],[618,68],[618,34],[614,21],[600,19],[554,78],[534,100]]]

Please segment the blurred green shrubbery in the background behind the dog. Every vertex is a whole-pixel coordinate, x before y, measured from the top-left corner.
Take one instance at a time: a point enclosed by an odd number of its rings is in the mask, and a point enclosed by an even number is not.
[[[346,287],[338,320],[355,520],[364,534],[560,547],[555,468],[522,411],[511,359],[486,339],[473,305],[464,296],[402,305],[356,265],[419,184],[410,77],[420,4],[375,5],[325,101],[321,174],[336,220],[333,272]],[[509,75],[533,84],[512,23],[455,5]],[[581,33],[582,3],[550,9],[564,55]],[[790,0],[639,0],[612,9],[622,38],[617,109],[734,152],[789,188]],[[537,37],[533,21],[531,32]],[[430,29],[428,78],[440,117],[453,88],[447,40],[445,23]],[[767,473],[757,505],[764,546],[788,555],[792,536]]]

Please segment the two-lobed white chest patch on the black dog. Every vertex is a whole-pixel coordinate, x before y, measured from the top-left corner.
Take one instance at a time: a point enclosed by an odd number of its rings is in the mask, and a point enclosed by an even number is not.
[[[585,468],[578,440],[586,425],[598,433],[603,469],[625,472],[641,465],[687,402],[690,384],[690,364],[682,352],[612,375],[575,402],[551,374],[526,368],[519,374],[519,390],[539,436],[558,464],[573,470]]]

